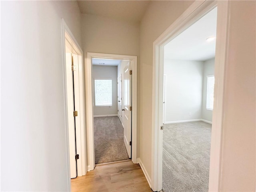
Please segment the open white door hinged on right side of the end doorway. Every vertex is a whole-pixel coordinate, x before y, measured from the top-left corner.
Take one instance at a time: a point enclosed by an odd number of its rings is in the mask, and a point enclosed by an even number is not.
[[[122,118],[124,124],[124,144],[128,153],[129,158],[131,158],[131,145],[130,142],[132,136],[132,125],[131,117],[132,112],[130,111],[131,104],[131,75],[130,75],[130,62],[124,68],[124,116]]]

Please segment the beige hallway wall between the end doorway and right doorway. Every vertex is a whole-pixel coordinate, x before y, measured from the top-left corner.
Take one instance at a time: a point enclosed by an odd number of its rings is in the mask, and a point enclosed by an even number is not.
[[[152,1],[140,23],[138,127],[140,159],[151,176],[153,42],[193,1]]]

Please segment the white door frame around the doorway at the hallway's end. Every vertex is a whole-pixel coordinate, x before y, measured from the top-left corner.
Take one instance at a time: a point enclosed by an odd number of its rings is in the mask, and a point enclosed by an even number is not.
[[[87,170],[93,170],[94,160],[94,122],[93,122],[93,85],[92,58],[129,60],[132,69],[132,162],[137,163],[137,56],[87,52],[85,59],[86,81],[86,133],[87,133]]]

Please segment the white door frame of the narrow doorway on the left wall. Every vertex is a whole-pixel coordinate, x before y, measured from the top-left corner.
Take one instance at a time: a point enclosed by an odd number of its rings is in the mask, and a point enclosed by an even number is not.
[[[71,45],[74,52],[78,54],[77,60],[77,76],[74,76],[78,80],[77,89],[74,92],[75,98],[78,103],[78,116],[76,117],[76,154],[79,154],[77,160],[77,176],[83,176],[86,174],[86,138],[85,138],[85,107],[84,107],[84,64],[83,64],[83,51],[76,41],[74,35],[68,28],[68,25],[62,18],[61,20],[61,41],[62,41],[62,63],[63,63],[63,85],[64,85],[64,116],[65,116],[65,131],[66,131],[66,162],[68,172],[68,186],[70,188],[70,162],[69,162],[69,139],[68,139],[68,105],[67,105],[67,87],[66,87],[66,40]],[[78,93],[78,94],[76,94]],[[80,114],[80,115],[79,115]]]

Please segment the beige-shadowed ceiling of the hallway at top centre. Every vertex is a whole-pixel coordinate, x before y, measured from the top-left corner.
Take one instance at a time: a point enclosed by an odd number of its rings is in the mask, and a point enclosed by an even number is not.
[[[78,0],[78,6],[83,14],[140,22],[149,2],[148,0]]]

